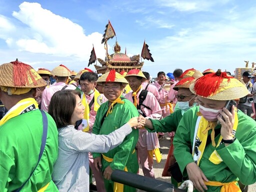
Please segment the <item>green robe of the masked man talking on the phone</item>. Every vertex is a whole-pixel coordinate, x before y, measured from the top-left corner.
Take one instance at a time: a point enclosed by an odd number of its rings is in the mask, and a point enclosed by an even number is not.
[[[183,176],[187,176],[185,166],[193,162],[189,150],[193,144],[197,111],[199,111],[198,106],[192,107],[183,114],[173,139],[174,156]],[[210,143],[204,149],[199,167],[210,181],[224,183],[239,179],[245,185],[256,182],[256,122],[240,110],[237,116],[236,140],[228,146],[222,143],[218,147],[213,147]],[[215,127],[218,128],[220,125]],[[208,134],[210,132],[208,131]],[[215,135],[216,143],[219,136],[220,134]],[[223,160],[219,164],[213,164],[208,160],[215,148]],[[207,186],[207,188],[207,191],[220,191],[220,187]]]

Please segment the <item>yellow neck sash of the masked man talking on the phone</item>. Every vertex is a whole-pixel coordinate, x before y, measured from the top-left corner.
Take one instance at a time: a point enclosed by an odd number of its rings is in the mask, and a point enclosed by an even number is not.
[[[200,115],[200,113],[198,113],[198,115]],[[237,117],[237,108],[234,109],[234,124],[233,124],[233,129],[232,129],[232,135],[235,135],[236,129],[237,129],[237,124],[238,124],[238,117]],[[193,153],[192,156],[198,156],[198,159],[194,160],[196,161],[197,164],[199,164],[199,161],[202,157],[202,154],[204,152],[205,149],[205,145],[206,145],[206,140],[207,140],[207,136],[208,136],[208,130],[211,129],[211,134],[210,134],[210,138],[211,138],[211,143],[212,146],[214,146],[215,148],[219,146],[221,140],[222,140],[222,136],[220,135],[217,145],[215,144],[214,138],[214,128],[216,126],[216,122],[215,121],[207,121],[203,116],[200,117],[200,121],[199,121],[199,126],[197,129],[197,133],[196,133],[196,140],[197,140],[197,145],[195,144],[194,148],[193,148]],[[196,142],[196,141],[195,141]],[[194,154],[194,149],[195,147],[198,147],[198,154],[195,155]],[[214,164],[219,164],[220,162],[222,162],[223,160],[221,159],[221,157],[219,156],[219,154],[217,153],[216,150],[214,150],[210,157],[209,160],[214,163]]]

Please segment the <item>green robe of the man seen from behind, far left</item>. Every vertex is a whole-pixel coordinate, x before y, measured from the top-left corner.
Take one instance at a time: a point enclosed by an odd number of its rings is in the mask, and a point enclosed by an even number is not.
[[[47,139],[40,162],[21,191],[37,191],[50,182],[46,191],[58,191],[51,180],[58,152],[58,132],[49,114]],[[0,191],[13,191],[29,177],[38,161],[42,138],[42,115],[32,110],[0,126]]]

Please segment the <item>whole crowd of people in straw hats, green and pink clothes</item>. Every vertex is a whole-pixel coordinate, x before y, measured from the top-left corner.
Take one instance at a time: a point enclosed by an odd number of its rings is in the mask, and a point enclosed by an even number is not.
[[[256,182],[253,77],[177,68],[151,83],[139,69],[98,76],[1,64],[0,191],[136,191],[111,174],[138,174],[140,164],[155,178],[165,132],[162,168],[176,187],[246,191]]]

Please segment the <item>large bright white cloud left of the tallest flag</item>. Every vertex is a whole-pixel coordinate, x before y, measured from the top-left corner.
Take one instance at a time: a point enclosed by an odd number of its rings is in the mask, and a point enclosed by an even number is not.
[[[39,3],[23,2],[19,8],[12,15],[29,28],[25,37],[16,40],[20,50],[86,58],[92,42],[95,47],[102,47],[100,33],[94,32],[86,36],[80,25],[42,8]],[[99,51],[99,55],[101,54]]]

